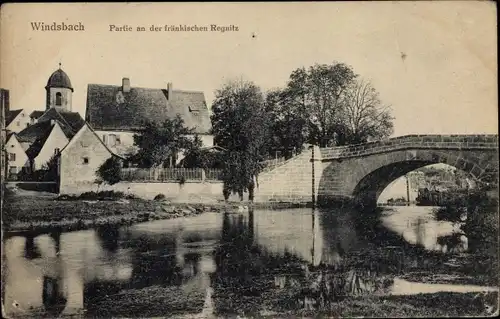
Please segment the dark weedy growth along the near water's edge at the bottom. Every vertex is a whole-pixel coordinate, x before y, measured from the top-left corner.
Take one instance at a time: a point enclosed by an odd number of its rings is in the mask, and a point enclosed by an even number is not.
[[[205,294],[175,287],[128,289],[92,304],[89,313],[102,317],[192,317],[202,312],[218,318],[293,317],[466,317],[493,316],[498,293],[434,293],[408,296],[361,296],[330,303],[327,307],[304,306],[282,291],[244,298],[215,296],[211,309],[203,309]],[[224,295],[224,294],[223,294]],[[241,296],[240,296],[241,297]],[[208,311],[208,313],[207,313]]]

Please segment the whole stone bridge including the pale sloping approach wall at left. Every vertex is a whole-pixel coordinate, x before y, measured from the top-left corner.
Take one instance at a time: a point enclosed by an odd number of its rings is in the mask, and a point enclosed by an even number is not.
[[[392,181],[417,168],[444,163],[489,182],[498,173],[498,135],[408,135],[358,145],[314,149],[259,176],[261,200],[375,203]]]

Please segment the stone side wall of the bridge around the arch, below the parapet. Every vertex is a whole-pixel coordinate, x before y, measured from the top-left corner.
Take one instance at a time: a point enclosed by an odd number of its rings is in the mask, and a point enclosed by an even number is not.
[[[498,153],[494,149],[411,148],[328,160],[324,162],[318,193],[325,201],[366,195],[371,196],[371,201],[376,201],[376,197],[395,179],[417,168],[437,163],[463,170],[474,180],[483,180],[491,170],[498,173]]]

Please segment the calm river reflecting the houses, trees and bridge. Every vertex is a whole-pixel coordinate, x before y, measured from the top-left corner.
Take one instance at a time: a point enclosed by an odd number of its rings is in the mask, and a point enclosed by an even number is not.
[[[11,316],[209,317],[241,313],[242,305],[262,315],[365,295],[494,290],[403,276],[437,271],[415,247],[463,256],[469,244],[430,207],[205,213],[9,237],[2,294]]]

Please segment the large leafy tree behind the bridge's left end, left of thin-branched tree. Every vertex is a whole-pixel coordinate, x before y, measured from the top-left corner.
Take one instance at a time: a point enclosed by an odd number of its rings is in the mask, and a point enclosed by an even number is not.
[[[337,62],[292,72],[283,101],[304,120],[307,126],[303,134],[309,143],[322,147],[335,144],[343,98],[356,77],[350,66]]]

